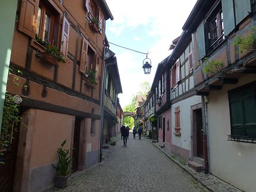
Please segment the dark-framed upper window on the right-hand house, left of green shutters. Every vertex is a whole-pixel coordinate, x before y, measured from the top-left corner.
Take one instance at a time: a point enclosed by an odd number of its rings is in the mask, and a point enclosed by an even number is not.
[[[208,52],[216,48],[224,40],[223,12],[219,4],[207,18]]]

